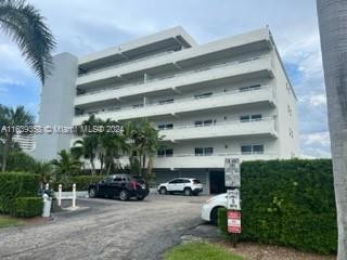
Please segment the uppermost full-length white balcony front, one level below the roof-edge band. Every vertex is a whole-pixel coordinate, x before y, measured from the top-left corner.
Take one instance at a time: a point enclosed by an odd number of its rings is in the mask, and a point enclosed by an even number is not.
[[[259,75],[273,77],[271,57],[269,55],[257,56],[253,58],[222,63],[214,66],[207,66],[195,70],[189,70],[180,74],[175,74],[166,77],[158,77],[147,79],[143,82],[121,84],[100,89],[86,94],[77,95],[75,105],[83,105],[106,100],[117,100],[131,95],[140,95],[160,90],[175,90],[183,88],[184,86],[196,84],[205,81],[213,81],[218,79],[228,79],[232,77],[249,77],[250,75]],[[112,75],[113,80],[116,81],[119,76]],[[95,80],[95,87],[99,84],[99,79]],[[88,80],[93,81],[93,80]],[[77,79],[77,87],[81,80]]]

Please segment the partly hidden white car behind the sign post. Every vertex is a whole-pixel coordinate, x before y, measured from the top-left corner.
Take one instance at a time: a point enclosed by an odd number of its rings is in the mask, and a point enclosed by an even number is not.
[[[227,208],[227,193],[219,194],[206,200],[202,208],[202,219],[217,224],[219,208]]]

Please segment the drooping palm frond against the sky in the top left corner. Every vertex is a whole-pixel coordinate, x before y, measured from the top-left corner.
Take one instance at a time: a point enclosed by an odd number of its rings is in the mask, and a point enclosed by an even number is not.
[[[39,11],[25,0],[0,0],[0,28],[20,47],[22,55],[44,83],[52,67],[55,40]]]

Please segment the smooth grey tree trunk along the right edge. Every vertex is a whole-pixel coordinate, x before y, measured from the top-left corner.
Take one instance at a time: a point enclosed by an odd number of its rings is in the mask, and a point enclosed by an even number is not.
[[[337,260],[347,259],[347,1],[318,0],[338,225]]]

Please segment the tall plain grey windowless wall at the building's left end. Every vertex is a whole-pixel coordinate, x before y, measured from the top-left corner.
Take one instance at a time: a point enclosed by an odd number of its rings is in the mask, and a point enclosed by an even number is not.
[[[77,57],[61,53],[53,57],[54,69],[41,91],[39,125],[42,127],[70,127],[76,95]],[[69,148],[72,135],[43,133],[37,136],[34,156],[40,160],[56,157],[61,150]]]

